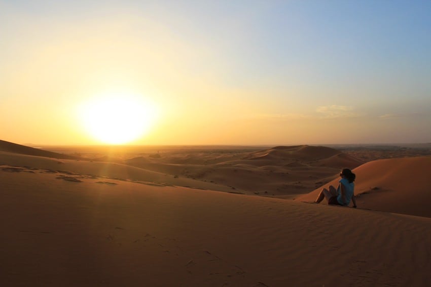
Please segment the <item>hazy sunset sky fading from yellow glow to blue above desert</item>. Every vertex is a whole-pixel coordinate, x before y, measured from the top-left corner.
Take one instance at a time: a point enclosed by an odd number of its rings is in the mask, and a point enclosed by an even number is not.
[[[431,142],[429,15],[407,0],[0,0],[0,139]]]

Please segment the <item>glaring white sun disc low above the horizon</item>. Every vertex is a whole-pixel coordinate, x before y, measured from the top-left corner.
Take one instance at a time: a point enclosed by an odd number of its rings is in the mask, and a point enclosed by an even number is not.
[[[154,105],[130,95],[96,97],[80,109],[84,128],[105,144],[126,144],[145,135],[153,126],[155,115]]]

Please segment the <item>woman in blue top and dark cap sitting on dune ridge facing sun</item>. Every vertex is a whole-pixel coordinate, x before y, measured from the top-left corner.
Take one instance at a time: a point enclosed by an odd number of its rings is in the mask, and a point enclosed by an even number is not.
[[[329,190],[324,188],[317,196],[316,203],[320,203],[325,197],[328,199],[328,204],[336,204],[339,206],[348,206],[350,200],[353,202],[353,207],[356,208],[356,200],[354,198],[354,180],[356,175],[349,169],[344,169],[340,173],[341,179],[338,188],[330,186]]]

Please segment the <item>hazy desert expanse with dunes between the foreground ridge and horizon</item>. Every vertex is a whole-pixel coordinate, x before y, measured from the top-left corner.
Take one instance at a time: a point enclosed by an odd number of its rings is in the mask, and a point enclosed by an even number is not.
[[[61,154],[58,158],[110,162],[110,165],[133,167],[134,173],[163,174],[169,184],[204,189],[210,184],[210,189],[215,190],[278,197],[310,192],[336,178],[342,168],[354,169],[376,159],[431,155],[431,144],[46,146],[44,149]],[[33,149],[30,154],[45,152],[39,150]],[[54,157],[49,152],[45,153]],[[146,176],[134,177],[147,180]]]

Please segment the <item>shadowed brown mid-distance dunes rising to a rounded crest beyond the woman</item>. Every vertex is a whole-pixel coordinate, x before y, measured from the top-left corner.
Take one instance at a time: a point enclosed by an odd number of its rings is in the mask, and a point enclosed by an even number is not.
[[[245,194],[283,196],[312,190],[339,169],[363,162],[338,150],[314,146],[278,146],[252,152],[163,153],[135,157],[130,166],[201,181],[215,182]],[[187,164],[186,164],[187,163]],[[332,179],[332,178],[331,178]]]

